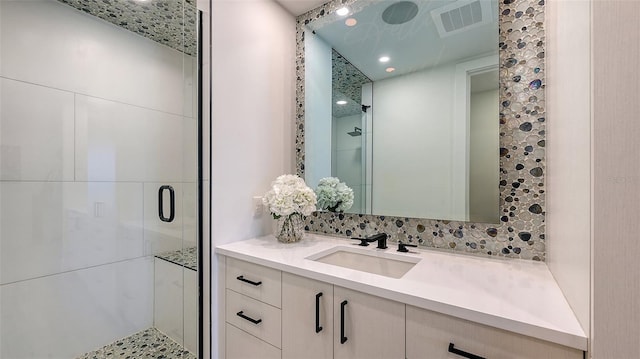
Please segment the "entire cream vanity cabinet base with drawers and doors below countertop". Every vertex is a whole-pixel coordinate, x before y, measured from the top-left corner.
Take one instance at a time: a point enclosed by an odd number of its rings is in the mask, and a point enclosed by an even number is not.
[[[253,248],[246,251],[249,249]],[[316,278],[327,277],[327,282],[310,279],[305,274],[315,275],[302,268],[306,262],[298,269],[290,264],[295,263],[290,257],[287,264],[276,268],[292,267],[296,274],[226,257],[227,359],[583,358],[578,346],[536,339],[382,298],[385,294],[379,297],[347,288],[349,283],[360,288],[357,280],[362,280],[361,274],[351,282],[337,277],[331,280],[326,273]],[[381,282],[379,287],[384,288]],[[343,283],[347,284],[343,287]],[[369,288],[375,293],[378,287],[369,284]],[[391,293],[389,297],[394,296]],[[548,338],[544,328],[534,329]]]

